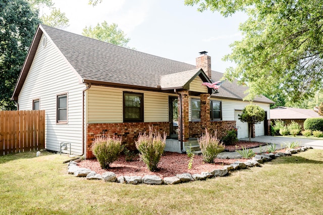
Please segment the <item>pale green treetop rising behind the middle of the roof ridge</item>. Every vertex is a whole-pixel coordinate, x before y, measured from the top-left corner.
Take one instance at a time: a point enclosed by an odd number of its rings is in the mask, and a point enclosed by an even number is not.
[[[118,28],[118,25],[112,23],[107,24],[106,21],[102,22],[101,25],[97,23],[95,27],[89,26],[83,29],[82,34],[94,39],[98,39],[104,42],[110,42],[122,47],[127,47],[130,38],[126,38],[126,34]]]

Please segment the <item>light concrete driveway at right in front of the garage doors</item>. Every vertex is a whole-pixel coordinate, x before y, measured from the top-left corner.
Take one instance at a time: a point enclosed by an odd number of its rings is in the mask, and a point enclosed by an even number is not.
[[[249,138],[242,138],[239,140],[249,141]],[[298,142],[300,146],[311,146],[314,149],[323,149],[323,140],[315,140],[309,138],[294,138],[294,137],[273,137],[273,136],[260,136],[251,138],[253,142],[272,143],[276,148],[282,148],[285,142]]]

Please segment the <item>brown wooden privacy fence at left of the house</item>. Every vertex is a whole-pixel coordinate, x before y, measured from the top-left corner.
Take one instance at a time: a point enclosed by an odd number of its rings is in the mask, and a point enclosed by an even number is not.
[[[45,111],[0,111],[0,156],[45,148]]]

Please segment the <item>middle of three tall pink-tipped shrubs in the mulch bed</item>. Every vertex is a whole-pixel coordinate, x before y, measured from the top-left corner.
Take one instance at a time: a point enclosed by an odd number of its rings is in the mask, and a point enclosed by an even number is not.
[[[161,154],[163,154],[165,149],[166,135],[164,133],[164,138],[158,133],[152,132],[152,127],[149,126],[149,134],[140,134],[138,141],[136,142],[136,147],[140,152],[140,157],[142,161],[147,165],[150,171],[156,171],[157,165],[160,160]]]

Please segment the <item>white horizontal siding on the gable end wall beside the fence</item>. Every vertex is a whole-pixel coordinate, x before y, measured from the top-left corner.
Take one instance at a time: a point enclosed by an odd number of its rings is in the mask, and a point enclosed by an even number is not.
[[[42,41],[42,38],[41,40]],[[41,42],[18,97],[20,110],[32,110],[34,98],[39,98],[45,110],[45,146],[59,151],[61,142],[71,143],[73,154],[82,154],[82,90],[84,84],[65,58],[47,38],[45,49]],[[57,96],[68,94],[68,123],[57,123]],[[66,151],[66,152],[69,152]]]

